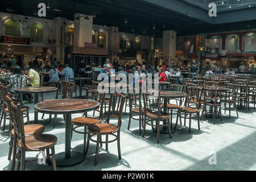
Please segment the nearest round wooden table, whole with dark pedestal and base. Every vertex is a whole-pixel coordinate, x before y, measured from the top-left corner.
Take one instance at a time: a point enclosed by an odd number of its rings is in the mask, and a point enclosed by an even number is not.
[[[93,100],[60,99],[46,100],[34,106],[35,110],[44,114],[65,114],[65,152],[56,154],[57,166],[73,166],[84,160],[84,154],[71,151],[71,114],[85,113],[96,109],[100,103]]]

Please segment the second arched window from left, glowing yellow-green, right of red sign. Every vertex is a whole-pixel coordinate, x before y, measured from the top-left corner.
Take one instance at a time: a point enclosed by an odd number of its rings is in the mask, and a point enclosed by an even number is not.
[[[30,37],[32,42],[44,42],[44,30],[42,25],[34,23],[30,26]]]

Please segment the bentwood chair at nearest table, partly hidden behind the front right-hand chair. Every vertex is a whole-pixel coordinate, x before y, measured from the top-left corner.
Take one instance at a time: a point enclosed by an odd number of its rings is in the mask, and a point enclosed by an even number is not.
[[[94,125],[100,123],[102,121],[103,115],[103,104],[105,99],[105,93],[101,90],[86,90],[86,100],[88,100],[88,94],[92,95],[92,100],[100,102],[100,107],[93,111],[93,117],[88,117],[87,113],[85,113],[85,117],[73,118],[72,119],[72,133],[73,131],[76,133],[84,134],[84,154],[86,150],[86,134],[87,127],[90,125]],[[99,113],[99,117],[94,117],[94,113],[97,111]],[[84,132],[77,131],[76,129],[79,127],[84,127]]]

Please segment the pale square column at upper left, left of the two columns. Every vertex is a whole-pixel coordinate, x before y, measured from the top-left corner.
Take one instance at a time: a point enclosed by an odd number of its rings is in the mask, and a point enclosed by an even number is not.
[[[82,16],[82,17],[81,17]],[[76,20],[80,17],[79,20]],[[75,14],[74,43],[76,47],[85,47],[85,43],[92,43],[93,16],[84,18],[84,14]]]

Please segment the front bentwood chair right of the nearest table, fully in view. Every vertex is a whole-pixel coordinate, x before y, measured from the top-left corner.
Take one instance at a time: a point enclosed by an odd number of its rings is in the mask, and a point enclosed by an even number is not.
[[[122,94],[110,94],[109,100],[109,111],[108,117],[104,123],[97,123],[94,125],[90,125],[88,127],[88,137],[86,144],[85,155],[88,152],[89,142],[96,142],[96,155],[94,160],[94,166],[98,163],[98,149],[100,144],[100,139],[102,135],[106,135],[106,141],[101,143],[106,143],[106,150],[108,151],[108,144],[111,142],[117,141],[118,148],[118,158],[121,159],[121,147],[120,147],[120,129],[122,125],[122,113],[123,113],[123,105],[125,105],[125,96]],[[114,117],[118,119],[117,125],[110,124],[110,117]],[[116,133],[116,134],[115,134]],[[92,139],[94,135],[97,135],[97,141]],[[109,135],[115,137],[115,139],[108,139]]]

